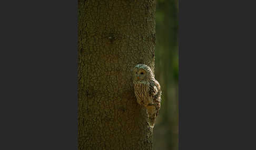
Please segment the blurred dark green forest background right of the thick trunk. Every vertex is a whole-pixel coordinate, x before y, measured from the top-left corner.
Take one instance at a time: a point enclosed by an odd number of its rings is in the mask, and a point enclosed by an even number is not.
[[[156,0],[155,78],[162,102],[153,133],[153,149],[178,150],[178,0]]]

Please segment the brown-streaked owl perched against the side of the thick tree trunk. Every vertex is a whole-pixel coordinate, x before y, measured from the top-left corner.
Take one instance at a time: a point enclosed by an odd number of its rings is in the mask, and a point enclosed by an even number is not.
[[[149,124],[154,127],[160,110],[161,87],[149,66],[138,64],[133,68],[133,86],[137,103],[146,107]]]

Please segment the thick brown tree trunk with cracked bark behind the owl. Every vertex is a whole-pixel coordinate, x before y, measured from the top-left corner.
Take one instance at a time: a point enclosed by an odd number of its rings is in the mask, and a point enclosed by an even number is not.
[[[131,69],[154,49],[155,0],[78,1],[78,149],[152,149]]]

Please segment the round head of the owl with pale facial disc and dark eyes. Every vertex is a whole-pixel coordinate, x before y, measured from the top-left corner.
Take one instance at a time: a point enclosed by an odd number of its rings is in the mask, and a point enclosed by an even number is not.
[[[149,66],[138,64],[133,68],[133,76],[135,81],[144,81],[154,78],[154,74]]]

